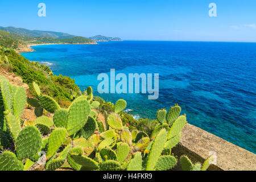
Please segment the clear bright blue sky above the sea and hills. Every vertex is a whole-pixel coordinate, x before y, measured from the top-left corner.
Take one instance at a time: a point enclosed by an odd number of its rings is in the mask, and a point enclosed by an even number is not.
[[[46,4],[46,17],[38,4]],[[217,17],[209,17],[209,3]],[[256,42],[255,0],[3,1],[0,26],[123,40]]]

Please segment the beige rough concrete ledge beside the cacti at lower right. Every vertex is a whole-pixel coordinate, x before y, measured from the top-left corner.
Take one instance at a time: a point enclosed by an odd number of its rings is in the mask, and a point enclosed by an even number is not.
[[[208,170],[256,170],[255,154],[193,125],[185,125],[179,144],[172,149],[178,157],[187,155],[194,163],[203,163],[210,151],[216,152],[217,163],[210,165]]]

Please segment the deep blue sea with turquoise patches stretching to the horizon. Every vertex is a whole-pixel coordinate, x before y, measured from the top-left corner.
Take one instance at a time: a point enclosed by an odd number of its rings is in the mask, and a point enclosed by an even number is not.
[[[179,104],[188,122],[256,153],[256,43],[101,42],[34,46],[22,53],[48,64],[55,75],[75,78],[80,89],[112,102],[123,98],[135,118]],[[100,73],[159,73],[159,98],[99,94]],[[118,81],[117,81],[118,82]]]

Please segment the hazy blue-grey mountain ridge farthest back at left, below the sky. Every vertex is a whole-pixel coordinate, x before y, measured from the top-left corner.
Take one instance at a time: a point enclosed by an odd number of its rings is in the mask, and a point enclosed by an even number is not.
[[[47,36],[47,37],[56,38],[56,39],[67,39],[67,38],[75,37],[75,35],[66,34],[63,32],[27,30],[26,28],[1,27],[0,26],[0,30],[7,31],[7,32],[10,32],[13,34],[20,35],[20,36],[30,36],[30,37]]]

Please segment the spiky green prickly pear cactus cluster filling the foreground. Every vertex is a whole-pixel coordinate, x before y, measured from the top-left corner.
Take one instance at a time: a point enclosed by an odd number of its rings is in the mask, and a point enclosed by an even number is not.
[[[118,100],[114,113],[105,113],[105,123],[98,120],[95,110],[100,102],[94,100],[92,88],[74,98],[68,109],[62,109],[53,98],[43,96],[34,82],[35,98],[26,98],[23,88],[11,85],[0,77],[0,171],[42,169],[53,171],[61,167],[84,170],[169,170],[181,164],[184,170],[206,170],[212,158],[202,165],[193,164],[187,156],[179,160],[171,148],[181,138],[186,121],[175,105],[167,112],[157,111],[159,125],[151,136],[130,131],[123,126],[119,114],[126,101]],[[26,126],[20,122],[26,101],[37,111],[53,113],[53,121],[36,113],[37,118]],[[43,113],[43,111],[42,111]]]

